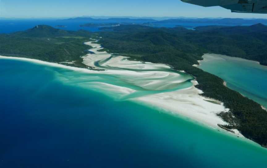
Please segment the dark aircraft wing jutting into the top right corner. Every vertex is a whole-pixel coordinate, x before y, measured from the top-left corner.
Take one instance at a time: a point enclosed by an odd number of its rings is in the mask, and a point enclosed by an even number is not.
[[[181,0],[203,7],[220,6],[239,13],[267,13],[267,0]]]

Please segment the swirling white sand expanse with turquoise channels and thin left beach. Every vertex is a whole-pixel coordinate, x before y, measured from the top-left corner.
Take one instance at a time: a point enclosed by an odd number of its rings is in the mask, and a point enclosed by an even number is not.
[[[212,103],[213,99],[199,95],[203,92],[195,87],[198,83],[191,75],[174,71],[165,64],[132,61],[125,56],[114,56],[106,51],[100,52],[102,47],[96,42],[85,43],[93,48],[89,50],[90,54],[82,57],[83,64],[101,71],[28,58],[0,56],[0,59],[25,60],[79,71],[85,75],[81,74],[80,77],[75,77],[77,83],[73,82],[73,77],[71,79],[62,78],[62,80],[67,84],[75,84],[106,93],[120,101],[127,99],[154,106],[213,128],[220,129],[217,124],[227,124],[216,114],[229,109],[226,109],[221,102]],[[86,74],[91,76],[86,76]]]

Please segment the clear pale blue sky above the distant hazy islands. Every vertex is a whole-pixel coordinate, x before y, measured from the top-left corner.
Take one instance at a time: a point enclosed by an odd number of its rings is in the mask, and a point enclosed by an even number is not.
[[[265,18],[221,7],[199,7],[180,0],[0,0],[0,17],[184,16]]]

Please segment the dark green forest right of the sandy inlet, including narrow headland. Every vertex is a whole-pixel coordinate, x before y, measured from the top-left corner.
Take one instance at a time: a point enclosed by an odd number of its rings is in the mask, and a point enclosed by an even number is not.
[[[154,29],[139,25],[112,29],[113,32],[101,33],[100,43],[104,48],[136,60],[169,64],[176,70],[192,74],[197,78],[199,85],[196,87],[204,92],[203,96],[220,100],[231,109],[231,112],[219,114],[231,123],[225,128],[238,129],[248,139],[267,147],[267,113],[261,105],[224,86],[221,78],[192,66],[208,52],[257,60],[265,65],[267,54],[263,53],[267,50],[262,49],[267,47],[266,26],[214,27],[209,31],[180,27]],[[257,50],[258,45],[262,49]]]

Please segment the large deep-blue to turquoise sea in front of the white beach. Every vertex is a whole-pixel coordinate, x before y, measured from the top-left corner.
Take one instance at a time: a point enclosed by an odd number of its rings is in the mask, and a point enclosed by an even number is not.
[[[0,167],[267,167],[255,143],[115,101],[80,76],[0,59]]]

